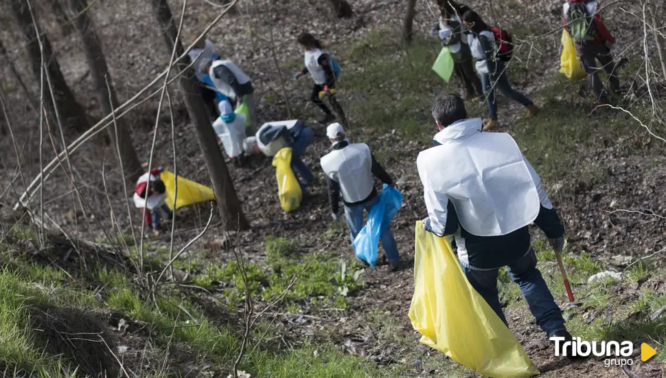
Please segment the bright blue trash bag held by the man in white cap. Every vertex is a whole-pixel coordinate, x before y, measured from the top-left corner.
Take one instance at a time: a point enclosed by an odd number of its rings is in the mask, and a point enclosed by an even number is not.
[[[356,257],[375,268],[379,249],[379,238],[389,228],[393,216],[402,206],[400,190],[384,184],[379,201],[370,209],[368,221],[354,238]]]

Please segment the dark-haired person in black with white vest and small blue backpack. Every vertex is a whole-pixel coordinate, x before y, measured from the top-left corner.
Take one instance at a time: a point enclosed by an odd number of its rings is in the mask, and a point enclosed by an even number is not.
[[[294,74],[294,78],[300,78],[308,73],[312,76],[314,85],[312,86],[310,100],[324,112],[324,118],[319,120],[319,123],[327,124],[335,120],[335,115],[326,107],[322,99],[319,98],[319,93],[323,92],[325,97],[328,98],[331,107],[337,113],[339,120],[346,125],[347,118],[345,117],[345,111],[343,111],[335,99],[334,93],[331,93],[331,90],[335,89],[336,85],[336,68],[334,67],[336,63],[330,57],[330,53],[323,49],[321,42],[317,38],[314,38],[312,34],[303,33],[299,35],[298,43],[305,49],[304,60],[306,67]]]

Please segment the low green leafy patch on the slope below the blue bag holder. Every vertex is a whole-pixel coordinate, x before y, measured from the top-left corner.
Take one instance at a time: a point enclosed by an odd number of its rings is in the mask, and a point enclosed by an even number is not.
[[[209,264],[194,276],[194,283],[209,289],[227,285],[225,296],[234,304],[242,304],[249,291],[251,298],[266,302],[282,299],[290,309],[306,302],[346,309],[347,297],[362,287],[359,277],[363,269],[356,263],[340,260],[331,252],[303,254],[286,238],[267,238],[264,263],[265,267],[244,263],[245,278],[236,261]]]

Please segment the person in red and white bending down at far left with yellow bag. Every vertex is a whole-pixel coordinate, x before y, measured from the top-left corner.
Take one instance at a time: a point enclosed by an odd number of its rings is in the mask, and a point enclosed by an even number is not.
[[[152,168],[139,177],[134,188],[134,205],[141,210],[146,208],[144,221],[148,227],[152,227],[154,236],[159,235],[159,213],[163,211],[169,218],[173,216],[165,203],[167,194],[164,182],[159,178],[160,173],[161,168]]]

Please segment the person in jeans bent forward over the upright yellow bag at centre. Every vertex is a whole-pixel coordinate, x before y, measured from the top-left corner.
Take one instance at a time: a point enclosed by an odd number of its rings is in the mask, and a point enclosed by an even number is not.
[[[314,131],[301,120],[266,122],[255,136],[245,138],[243,150],[246,155],[264,153],[266,156],[275,156],[282,148],[291,147],[291,169],[301,190],[305,192],[316,181],[308,165],[303,162],[303,154],[313,140]]]

